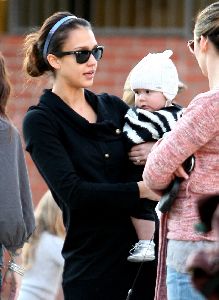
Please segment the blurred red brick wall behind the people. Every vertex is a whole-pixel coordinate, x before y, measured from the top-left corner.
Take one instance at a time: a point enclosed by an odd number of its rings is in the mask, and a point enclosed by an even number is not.
[[[194,57],[186,47],[183,38],[149,38],[149,37],[97,37],[98,43],[105,46],[104,58],[99,63],[94,86],[95,92],[108,92],[119,97],[131,68],[148,52],[160,52],[165,49],[174,51],[173,60],[177,66],[180,79],[188,89],[177,96],[177,102],[187,105],[198,92],[208,88],[206,78],[201,74]],[[27,108],[37,103],[38,96],[48,80],[34,79],[27,81],[22,71],[22,37],[1,36],[0,50],[5,55],[10,78],[13,84],[13,94],[8,106],[8,113],[21,132],[22,119]],[[34,203],[40,199],[46,190],[42,180],[28,154],[26,154],[28,171]]]

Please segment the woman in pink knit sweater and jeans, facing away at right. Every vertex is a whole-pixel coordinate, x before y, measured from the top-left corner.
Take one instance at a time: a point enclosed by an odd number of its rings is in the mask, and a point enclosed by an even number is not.
[[[197,16],[194,40],[189,41],[209,91],[197,95],[174,129],[153,148],[143,178],[154,190],[164,190],[175,176],[185,180],[173,206],[162,215],[157,300],[200,300],[202,295],[191,284],[186,269],[190,252],[209,247],[214,233],[194,229],[199,222],[199,199],[219,194],[219,2]],[[182,163],[195,156],[195,168],[188,175]]]

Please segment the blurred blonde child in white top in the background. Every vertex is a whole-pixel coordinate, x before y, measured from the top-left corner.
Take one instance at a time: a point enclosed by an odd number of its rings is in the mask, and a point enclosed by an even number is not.
[[[23,249],[19,300],[55,300],[61,287],[65,238],[62,211],[48,190],[35,209],[36,229]]]

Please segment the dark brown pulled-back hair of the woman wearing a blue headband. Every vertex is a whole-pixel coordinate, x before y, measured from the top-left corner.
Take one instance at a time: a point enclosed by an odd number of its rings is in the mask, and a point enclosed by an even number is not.
[[[56,12],[44,21],[39,31],[26,36],[24,42],[25,58],[23,67],[31,77],[41,76],[48,71],[53,72],[53,68],[43,58],[43,48],[51,28],[66,16],[74,15],[69,12]],[[90,23],[82,18],[72,18],[68,22],[63,23],[52,36],[47,53],[55,54],[56,52],[62,51],[69,32],[79,27],[91,29]]]

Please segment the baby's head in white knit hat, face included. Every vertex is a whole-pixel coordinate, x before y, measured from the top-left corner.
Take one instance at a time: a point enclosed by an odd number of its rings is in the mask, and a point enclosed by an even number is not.
[[[179,89],[179,78],[171,50],[149,53],[132,70],[130,86],[135,105],[149,111],[169,106]]]

